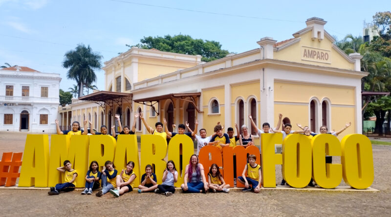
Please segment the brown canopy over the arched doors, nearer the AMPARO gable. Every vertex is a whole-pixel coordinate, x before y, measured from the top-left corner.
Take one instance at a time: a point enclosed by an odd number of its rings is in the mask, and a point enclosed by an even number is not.
[[[200,109],[199,109],[199,100],[197,101],[198,103],[196,103],[196,100],[195,100],[197,98],[199,99],[199,96],[201,96],[201,92],[178,93],[178,94],[166,94],[166,95],[160,95],[160,96],[153,96],[153,97],[142,98],[142,99],[133,99],[133,101],[144,104],[144,105],[151,106],[157,115],[159,115],[159,112],[156,111],[156,109],[155,109],[155,107],[153,107],[153,105],[162,99],[179,99],[179,100],[188,101],[193,104],[195,110],[197,110],[198,113],[203,113],[203,111],[200,111]],[[190,99],[186,99],[186,98],[190,98]],[[152,103],[152,102],[154,102],[154,103]]]

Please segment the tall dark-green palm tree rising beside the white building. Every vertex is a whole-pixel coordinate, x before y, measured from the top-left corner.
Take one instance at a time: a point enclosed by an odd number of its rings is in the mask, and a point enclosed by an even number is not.
[[[85,84],[91,84],[96,81],[94,72],[101,68],[100,60],[103,57],[98,53],[92,52],[89,45],[78,44],[75,50],[70,50],[65,53],[63,67],[68,69],[66,77],[76,80],[78,85],[78,96],[83,96]]]

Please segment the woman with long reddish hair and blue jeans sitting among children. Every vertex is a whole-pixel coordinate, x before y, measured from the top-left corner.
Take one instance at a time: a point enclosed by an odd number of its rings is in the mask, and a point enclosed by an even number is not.
[[[198,162],[197,155],[190,157],[189,164],[185,169],[183,182],[180,186],[183,192],[206,194],[208,191],[208,182],[205,178],[204,167]]]

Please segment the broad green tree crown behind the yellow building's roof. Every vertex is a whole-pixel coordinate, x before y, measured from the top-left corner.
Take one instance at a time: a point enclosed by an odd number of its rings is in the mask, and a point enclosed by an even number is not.
[[[221,49],[221,44],[214,40],[193,39],[189,35],[166,35],[164,37],[144,37],[141,43],[136,45],[126,45],[128,47],[138,47],[144,49],[157,49],[160,51],[173,52],[179,54],[201,55],[202,61],[209,62],[220,59],[229,52]]]

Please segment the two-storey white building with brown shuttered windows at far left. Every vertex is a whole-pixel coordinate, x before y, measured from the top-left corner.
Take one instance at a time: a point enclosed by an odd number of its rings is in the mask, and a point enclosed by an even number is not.
[[[60,74],[14,66],[0,70],[0,130],[55,133]]]

